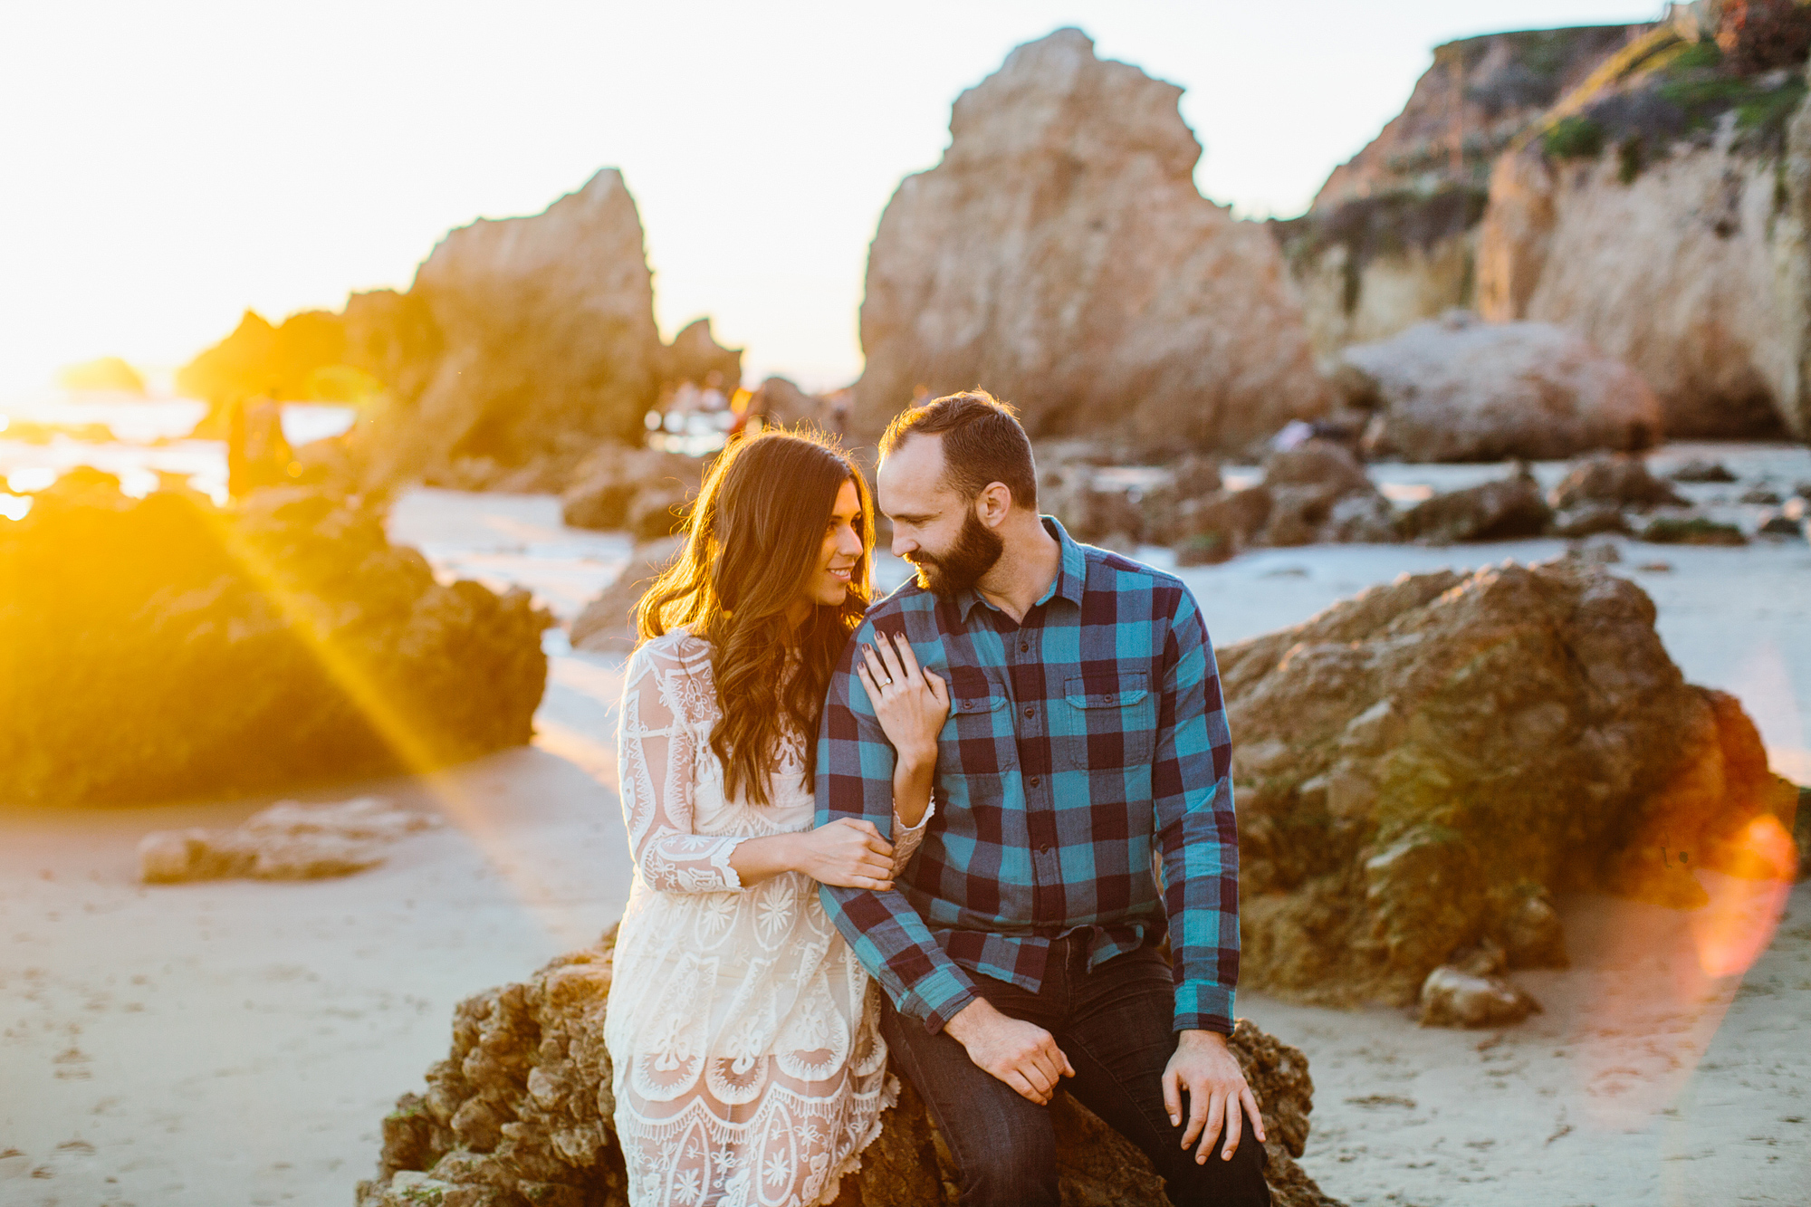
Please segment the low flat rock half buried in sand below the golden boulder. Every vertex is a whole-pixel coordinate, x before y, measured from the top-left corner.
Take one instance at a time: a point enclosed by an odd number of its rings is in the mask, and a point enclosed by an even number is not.
[[[181,881],[317,881],[384,863],[384,846],[427,830],[438,817],[377,796],[339,805],[281,801],[232,830],[156,830],[139,839],[147,884]]]

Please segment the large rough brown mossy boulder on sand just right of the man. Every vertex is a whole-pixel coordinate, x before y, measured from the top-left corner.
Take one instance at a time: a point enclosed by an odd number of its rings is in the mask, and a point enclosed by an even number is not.
[[[1251,990],[1407,1006],[1481,941],[1559,962],[1554,893],[1704,903],[1662,837],[1730,868],[1789,819],[1740,705],[1581,558],[1404,575],[1217,656]]]

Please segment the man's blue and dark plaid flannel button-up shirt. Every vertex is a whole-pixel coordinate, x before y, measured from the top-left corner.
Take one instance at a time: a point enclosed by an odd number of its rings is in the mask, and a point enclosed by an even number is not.
[[[951,716],[924,846],[893,892],[824,886],[824,908],[931,1031],[978,997],[971,971],[1036,993],[1050,942],[1085,930],[1090,968],[1168,933],[1175,1029],[1230,1033],[1239,835],[1206,627],[1175,576],[1043,522],[1063,565],[1023,623],[974,591],[907,584],[844,651],[819,730],[819,825],[891,832],[895,752],[855,678],[877,629],[949,681]]]

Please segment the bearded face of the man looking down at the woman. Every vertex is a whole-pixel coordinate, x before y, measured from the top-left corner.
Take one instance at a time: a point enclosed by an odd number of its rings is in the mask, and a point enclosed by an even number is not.
[[[893,520],[893,555],[918,567],[918,585],[962,594],[1000,560],[1003,542],[944,478],[944,439],[911,435],[880,462],[880,509]]]

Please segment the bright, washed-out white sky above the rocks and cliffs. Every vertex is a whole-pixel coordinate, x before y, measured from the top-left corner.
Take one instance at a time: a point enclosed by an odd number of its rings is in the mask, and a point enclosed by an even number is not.
[[[634,194],[666,337],[752,377],[860,372],[867,243],[956,94],[1076,25],[1184,89],[1201,190],[1302,212],[1431,47],[1653,20],[1646,0],[56,0],[0,5],[0,399],[168,370],[244,308],[406,288],[449,228]]]

